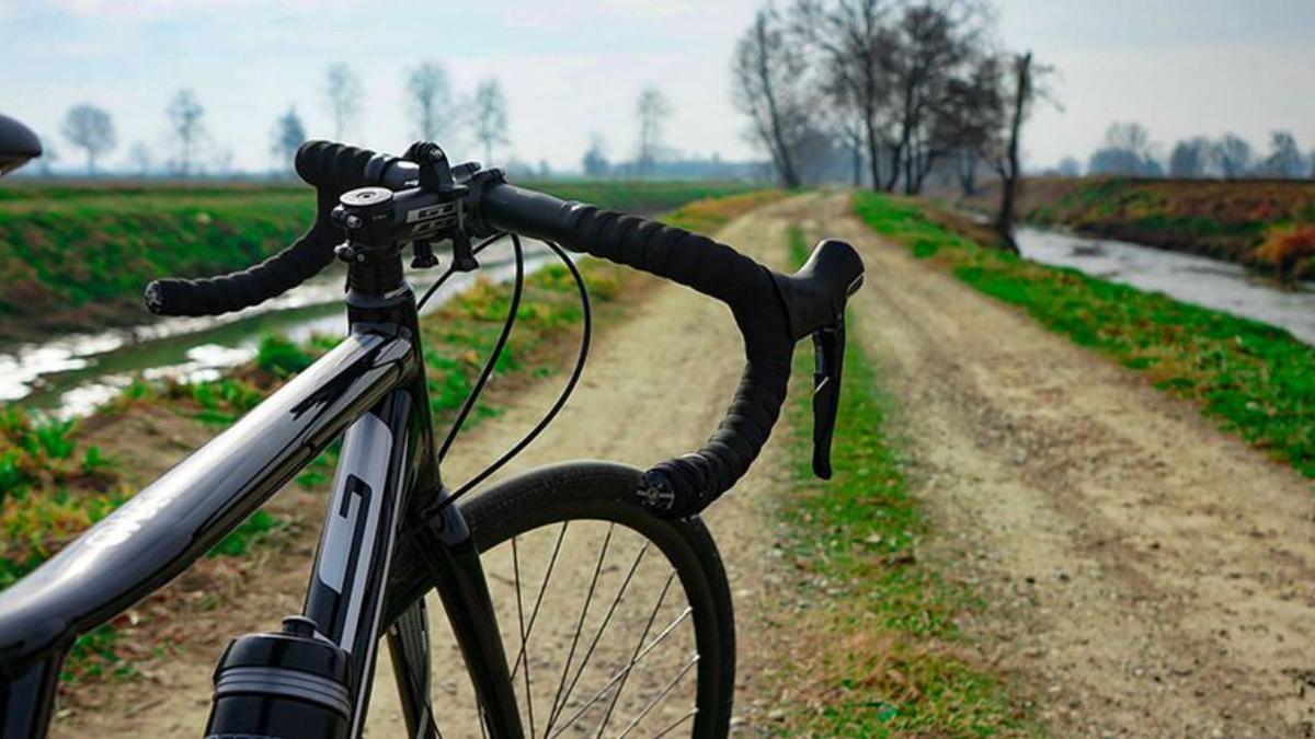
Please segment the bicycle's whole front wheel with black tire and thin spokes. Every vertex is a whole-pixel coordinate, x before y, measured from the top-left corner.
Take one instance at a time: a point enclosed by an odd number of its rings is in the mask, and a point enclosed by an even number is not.
[[[721,556],[702,522],[644,512],[639,476],[560,464],[460,504],[527,736],[729,731],[735,623]],[[450,697],[434,694],[439,730],[479,735]]]

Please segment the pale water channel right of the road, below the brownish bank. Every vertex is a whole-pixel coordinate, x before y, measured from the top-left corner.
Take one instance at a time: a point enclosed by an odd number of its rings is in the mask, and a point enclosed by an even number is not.
[[[1015,238],[1023,256],[1035,262],[1279,326],[1315,345],[1312,283],[1289,291],[1239,264],[1045,229],[1022,227]]]

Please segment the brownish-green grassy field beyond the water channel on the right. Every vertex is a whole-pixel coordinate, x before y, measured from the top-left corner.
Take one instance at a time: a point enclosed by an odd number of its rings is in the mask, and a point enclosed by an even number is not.
[[[968,203],[992,208],[994,199],[990,188]],[[1289,277],[1315,276],[1315,181],[1038,178],[1024,183],[1019,214]]]

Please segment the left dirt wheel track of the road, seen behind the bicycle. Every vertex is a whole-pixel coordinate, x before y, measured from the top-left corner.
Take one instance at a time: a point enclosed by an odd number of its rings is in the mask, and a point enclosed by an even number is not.
[[[717,237],[759,259],[780,264],[786,251],[786,227],[805,217],[815,203],[815,197],[802,196],[764,206],[732,221]],[[743,368],[742,345],[730,312],[710,298],[673,284],[664,283],[647,291],[642,302],[623,323],[613,326],[596,339],[598,341],[594,343],[581,385],[565,410],[548,431],[517,458],[510,465],[512,469],[500,473],[498,477],[539,464],[580,458],[646,467],[665,455],[694,448],[721,419]],[[463,434],[454,447],[452,456],[444,463],[444,477],[448,483],[460,483],[468,475],[477,472],[483,463],[519,439],[556,396],[567,368],[564,364],[563,372],[527,388],[517,397],[514,408],[502,416],[485,419]],[[736,725],[747,731],[756,730],[757,713],[765,714],[764,706],[769,702],[755,680],[756,665],[771,660],[771,644],[764,644],[761,648],[757,646],[760,623],[755,618],[755,604],[767,596],[765,590],[772,586],[771,583],[777,581],[769,572],[778,564],[778,560],[771,556],[772,543],[776,540],[773,534],[776,523],[771,509],[775,480],[788,479],[788,473],[778,468],[777,462],[782,437],[781,431],[773,434],[773,441],[764,450],[753,471],[732,494],[719,501],[705,515],[721,548],[735,597],[736,642],[740,654],[736,714],[742,717]],[[580,546],[564,547],[562,560],[554,565],[554,581],[588,584],[597,565],[597,544],[601,535],[605,534],[600,534],[600,529],[594,527],[590,533],[583,534],[584,539],[575,539]],[[576,538],[577,534],[572,533],[569,536]],[[627,544],[618,536],[611,546],[619,550]],[[522,575],[531,588],[535,588],[538,579],[542,579],[551,548],[552,539],[548,536],[527,542],[525,550],[519,552],[521,564],[526,569]],[[580,556],[571,559],[568,552]],[[191,648],[168,660],[142,685],[125,686],[124,693],[129,694],[126,701],[107,698],[97,710],[80,711],[68,721],[57,722],[54,734],[195,736],[204,726],[209,711],[210,671],[222,644],[233,634],[275,629],[283,615],[300,609],[310,554],[309,544],[305,544],[302,550],[295,552],[295,556],[263,563],[263,575],[251,583],[254,592],[239,593],[233,601],[221,606],[220,610],[233,610],[225,622],[226,627],[217,630],[222,636],[216,636],[205,648]],[[510,560],[500,556],[498,561],[487,567],[500,622],[504,629],[515,630],[518,614],[514,600],[498,598],[500,590],[505,592],[505,585],[512,579]],[[601,576],[600,592],[614,586],[621,577],[618,569],[629,567],[629,561],[618,558],[617,565],[608,567],[609,572]],[[644,586],[660,588],[661,577],[655,577]],[[460,655],[448,636],[446,617],[437,598],[430,597],[427,602],[434,638],[434,700],[438,713],[443,715],[441,728],[446,736],[479,736],[473,710],[468,707],[471,705],[468,679]],[[601,610],[594,610],[590,618],[597,619]],[[663,614],[664,618],[669,615],[672,614],[667,611]],[[544,598],[538,618],[540,626],[535,629],[535,635],[543,630],[547,634],[543,639],[547,642],[556,640],[558,646],[565,644],[576,631],[580,601]],[[590,627],[596,623],[597,621],[590,621]],[[510,648],[514,642],[509,639],[508,644]],[[580,651],[584,650],[585,646],[581,644]],[[600,654],[602,651],[604,647],[600,647]],[[404,725],[387,650],[381,648],[380,655],[367,734],[402,735]],[[615,657],[614,654],[602,656]],[[535,689],[540,680],[556,682],[560,661],[538,663],[535,659],[530,660],[530,665],[537,669]],[[636,669],[634,675],[636,681],[661,677],[656,671],[642,673]],[[589,688],[588,677],[590,676],[586,675],[580,680],[573,705],[559,710],[559,726],[567,723],[571,714],[580,711],[580,706],[600,688],[598,685]],[[663,684],[655,682],[648,686]],[[554,692],[548,690],[550,698],[554,697]],[[640,690],[634,693],[639,694]],[[444,707],[451,710],[444,711]],[[622,709],[617,710],[619,714]],[[551,707],[537,705],[540,735],[547,713],[551,713]],[[623,726],[625,722],[615,723],[609,728],[609,734],[619,731]],[[554,728],[554,732],[556,731],[558,728]],[[563,736],[573,735],[576,735],[573,731],[563,734]],[[636,730],[633,735],[646,734]],[[679,735],[679,731],[672,735]]]

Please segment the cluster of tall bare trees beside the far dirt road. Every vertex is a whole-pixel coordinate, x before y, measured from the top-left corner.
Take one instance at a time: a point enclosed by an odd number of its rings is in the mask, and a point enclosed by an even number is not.
[[[978,0],[768,4],[731,58],[731,100],[781,184],[817,181],[836,154],[848,179],[919,193],[935,172],[965,189],[1005,183],[997,225],[1011,243],[1023,122],[1049,67],[999,49]]]

